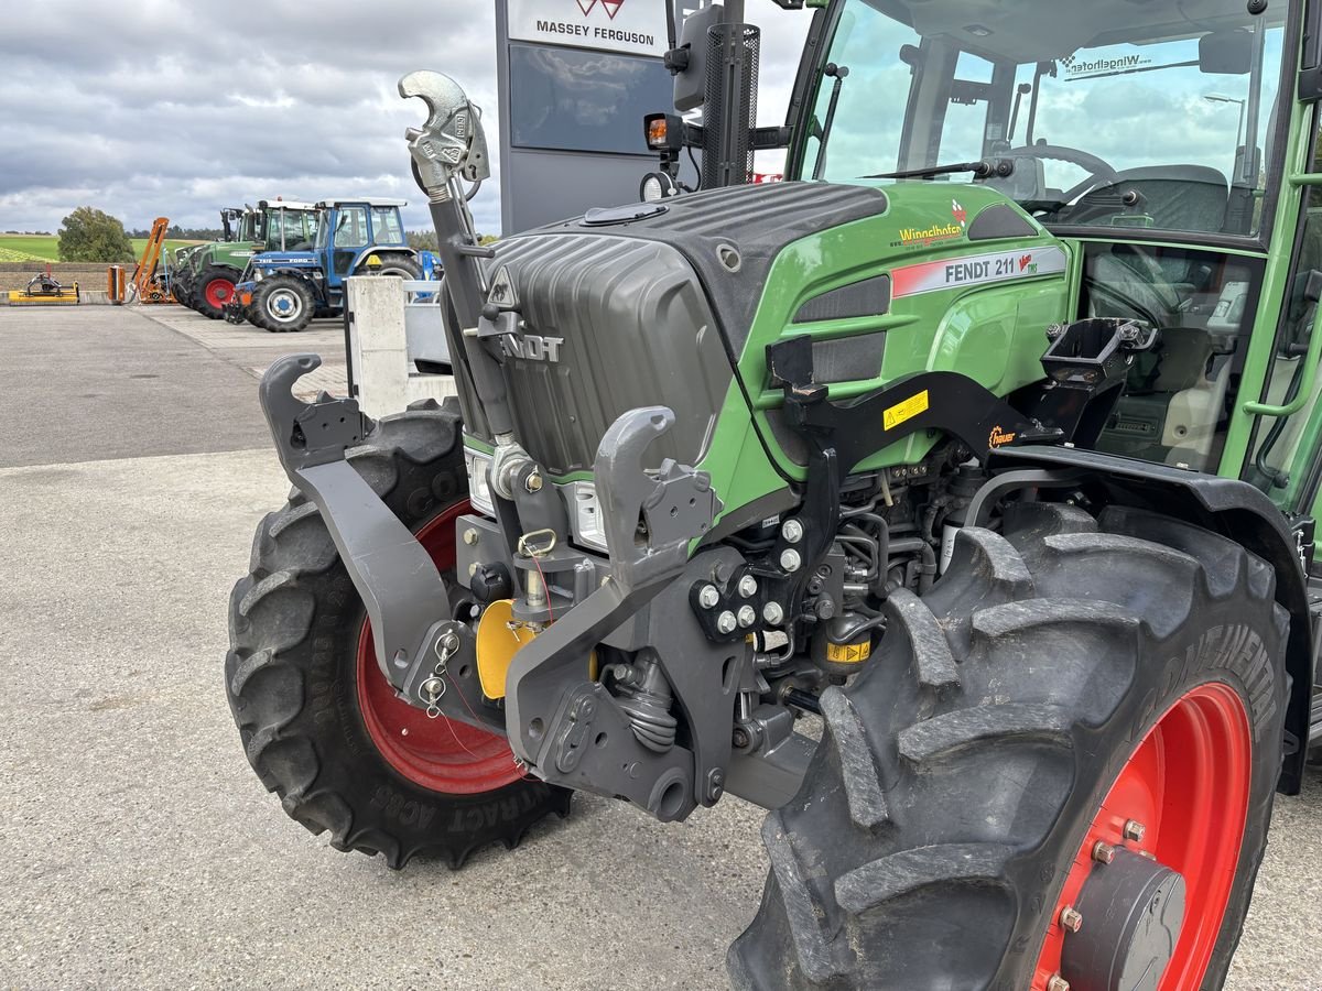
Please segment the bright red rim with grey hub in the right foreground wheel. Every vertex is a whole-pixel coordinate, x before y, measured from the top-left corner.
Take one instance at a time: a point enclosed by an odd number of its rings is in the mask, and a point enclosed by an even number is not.
[[[1150,854],[1183,875],[1185,922],[1159,987],[1199,987],[1235,884],[1252,749],[1248,711],[1227,684],[1202,684],[1166,710],[1129,756],[1088,827],[1038,957],[1034,991],[1044,991],[1060,971],[1071,938],[1060,914],[1076,902],[1097,867],[1092,852],[1099,842]],[[1125,836],[1129,821],[1142,823],[1141,839]]]

